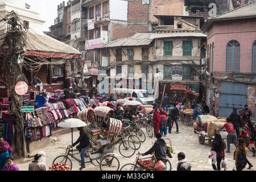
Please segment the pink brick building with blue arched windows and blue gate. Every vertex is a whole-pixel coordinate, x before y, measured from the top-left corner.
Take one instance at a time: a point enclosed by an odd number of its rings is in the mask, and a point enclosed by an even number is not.
[[[256,2],[208,19],[207,32],[209,104],[220,115],[229,115],[234,107],[245,104],[255,118],[256,89]]]

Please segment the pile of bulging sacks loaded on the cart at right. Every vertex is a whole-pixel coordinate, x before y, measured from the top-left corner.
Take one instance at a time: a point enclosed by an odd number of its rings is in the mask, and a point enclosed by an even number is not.
[[[213,137],[215,131],[221,129],[226,122],[226,119],[217,119],[212,115],[199,115],[193,126],[196,131],[205,131],[208,137]]]

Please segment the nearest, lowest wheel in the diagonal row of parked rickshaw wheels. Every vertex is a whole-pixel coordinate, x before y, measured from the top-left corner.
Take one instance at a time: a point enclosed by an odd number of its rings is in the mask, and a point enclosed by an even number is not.
[[[124,140],[122,143],[119,144],[118,150],[119,153],[125,157],[125,158],[130,158],[135,154],[135,144],[131,142],[130,140]]]

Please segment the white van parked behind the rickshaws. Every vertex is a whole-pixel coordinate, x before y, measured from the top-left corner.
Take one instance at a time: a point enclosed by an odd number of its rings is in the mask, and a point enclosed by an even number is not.
[[[118,97],[132,97],[134,101],[139,101],[143,105],[155,105],[155,99],[147,90],[115,88],[112,93],[114,100],[118,100]]]

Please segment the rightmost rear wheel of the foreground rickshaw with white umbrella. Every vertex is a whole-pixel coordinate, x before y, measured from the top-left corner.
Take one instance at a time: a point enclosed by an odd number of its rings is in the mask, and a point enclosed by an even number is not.
[[[113,154],[106,155],[104,158],[101,159],[101,171],[118,171],[119,167],[119,160]]]

